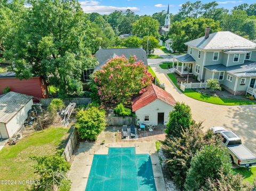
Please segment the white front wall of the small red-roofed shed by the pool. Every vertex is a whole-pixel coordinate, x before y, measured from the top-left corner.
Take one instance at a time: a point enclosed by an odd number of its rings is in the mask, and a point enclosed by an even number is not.
[[[140,122],[145,124],[157,125],[157,113],[164,113],[164,122],[168,121],[169,113],[173,110],[173,106],[160,99],[145,105],[141,109],[135,111]],[[149,121],[144,121],[145,115],[149,115]]]

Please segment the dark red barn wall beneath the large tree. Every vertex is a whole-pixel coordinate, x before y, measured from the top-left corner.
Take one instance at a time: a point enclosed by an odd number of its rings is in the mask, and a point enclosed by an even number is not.
[[[40,77],[33,77],[28,80],[18,78],[0,78],[0,95],[3,94],[3,89],[10,87],[12,92],[31,95],[37,98],[47,98],[47,85]],[[44,95],[44,90],[46,95]]]

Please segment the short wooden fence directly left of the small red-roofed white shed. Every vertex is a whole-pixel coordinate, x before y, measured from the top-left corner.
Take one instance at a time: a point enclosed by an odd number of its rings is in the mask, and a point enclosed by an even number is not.
[[[106,117],[106,122],[109,126],[131,126],[136,124],[134,117]]]

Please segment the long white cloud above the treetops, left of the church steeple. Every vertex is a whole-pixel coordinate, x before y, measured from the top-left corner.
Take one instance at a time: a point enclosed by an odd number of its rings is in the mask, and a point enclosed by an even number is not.
[[[97,12],[100,14],[110,14],[117,11],[126,11],[127,9],[130,9],[131,11],[139,11],[140,9],[138,7],[118,7],[118,6],[104,6],[104,5],[96,5],[96,6],[81,6],[83,11],[85,13],[92,13]]]

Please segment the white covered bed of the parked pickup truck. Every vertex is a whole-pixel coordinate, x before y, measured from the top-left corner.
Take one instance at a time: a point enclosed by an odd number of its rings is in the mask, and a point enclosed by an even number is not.
[[[239,159],[249,160],[255,159],[255,155],[249,151],[243,144],[227,146]]]

